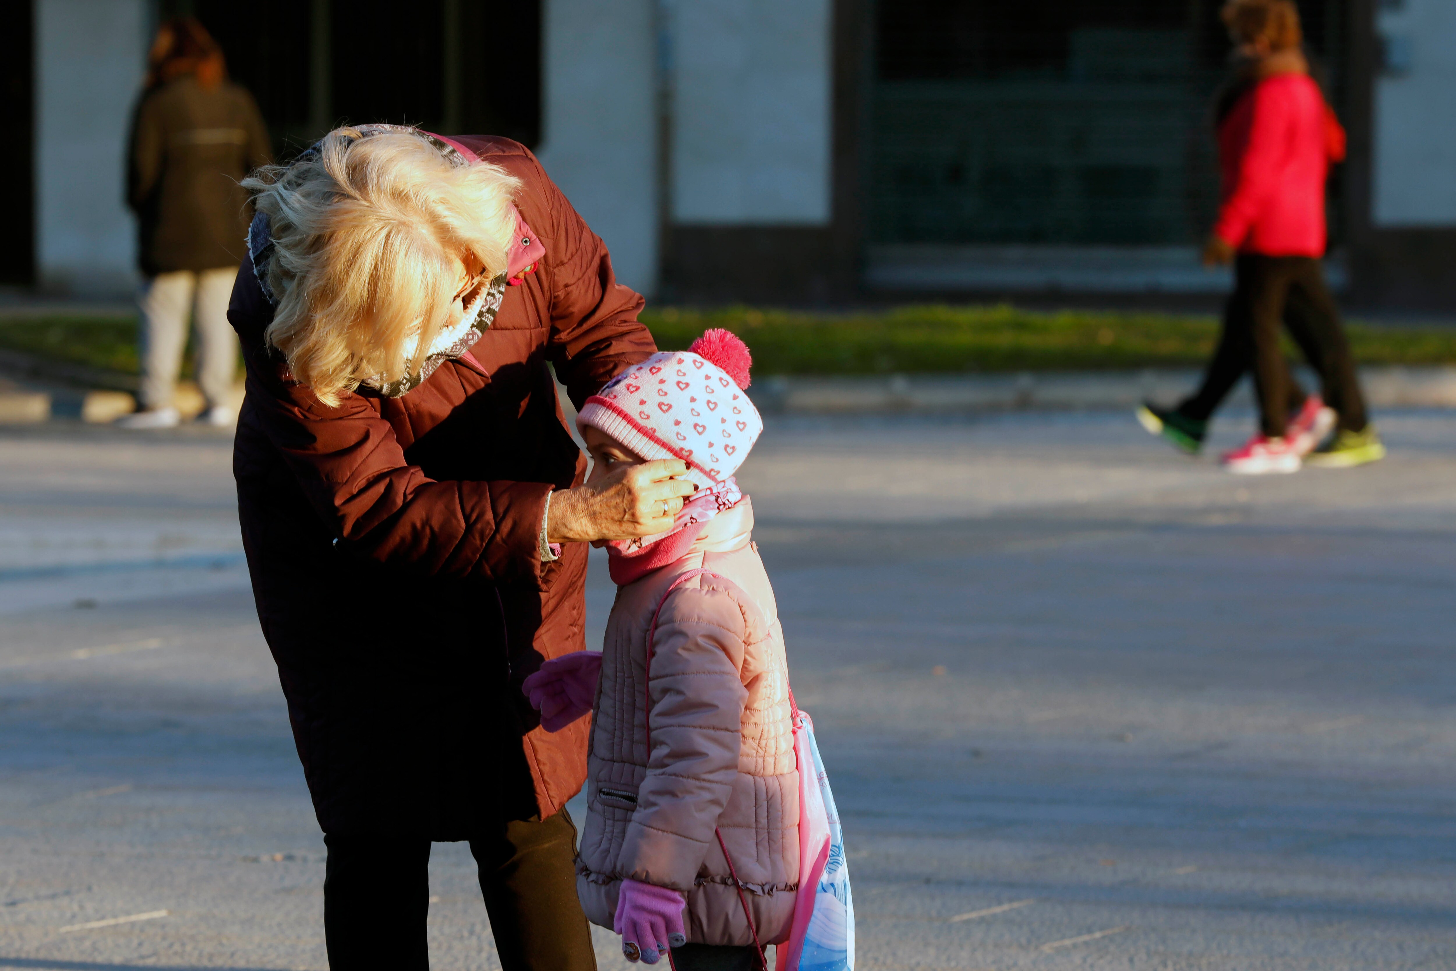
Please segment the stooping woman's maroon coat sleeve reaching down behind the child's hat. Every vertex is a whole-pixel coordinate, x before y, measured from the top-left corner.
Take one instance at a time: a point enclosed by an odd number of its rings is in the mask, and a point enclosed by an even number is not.
[[[612,255],[534,159],[552,220],[550,338],[547,354],[572,403],[581,408],[601,386],[657,351],[638,320],[646,303],[617,282]]]

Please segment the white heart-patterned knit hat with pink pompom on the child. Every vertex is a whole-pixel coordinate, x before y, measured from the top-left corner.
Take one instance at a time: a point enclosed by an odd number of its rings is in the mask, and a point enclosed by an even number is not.
[[[600,428],[644,459],[681,459],[687,479],[712,488],[748,457],[763,418],[748,387],[748,348],[703,332],[687,351],[661,351],[587,399],[577,428]]]

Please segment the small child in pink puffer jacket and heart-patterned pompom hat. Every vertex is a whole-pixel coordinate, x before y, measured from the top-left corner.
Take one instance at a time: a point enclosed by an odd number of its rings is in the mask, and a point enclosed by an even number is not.
[[[763,431],[748,364],[738,338],[709,330],[587,400],[593,476],[681,459],[699,491],[667,533],[606,543],[617,598],[600,659],[566,655],[526,681],[547,729],[596,718],[577,860],[587,917],[622,935],[629,961],[671,948],[680,971],[763,967],[798,887],[783,635],[732,477]]]

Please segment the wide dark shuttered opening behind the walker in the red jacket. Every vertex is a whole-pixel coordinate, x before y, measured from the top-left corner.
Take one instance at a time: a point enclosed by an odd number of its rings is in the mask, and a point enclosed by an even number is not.
[[[1217,205],[1220,7],[881,0],[869,242],[1198,242]],[[1342,0],[1300,9],[1312,49],[1338,68]]]

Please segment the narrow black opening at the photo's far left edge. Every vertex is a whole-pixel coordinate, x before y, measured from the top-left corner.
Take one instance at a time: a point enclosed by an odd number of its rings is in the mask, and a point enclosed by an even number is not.
[[[0,31],[0,98],[9,122],[6,150],[0,153],[0,284],[20,287],[35,282],[33,6],[29,0],[15,4]]]

